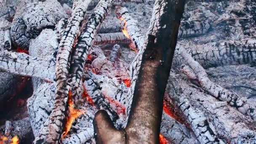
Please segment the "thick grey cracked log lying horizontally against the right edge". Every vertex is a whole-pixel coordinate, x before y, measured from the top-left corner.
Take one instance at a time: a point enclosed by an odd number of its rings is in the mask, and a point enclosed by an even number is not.
[[[256,40],[251,38],[204,45],[188,43],[187,45],[179,45],[179,47],[185,48],[187,53],[204,68],[253,64],[256,62]],[[179,54],[175,56],[176,59],[180,60]]]

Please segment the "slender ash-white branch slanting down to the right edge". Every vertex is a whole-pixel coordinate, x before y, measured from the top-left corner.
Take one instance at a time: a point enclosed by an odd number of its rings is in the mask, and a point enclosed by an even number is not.
[[[235,107],[239,112],[250,115],[251,118],[255,121],[256,120],[256,111],[255,107],[250,106],[246,103],[245,99],[240,98],[236,93],[228,91],[225,88],[222,88],[219,85],[211,82],[211,80],[207,77],[207,73],[205,69],[195,61],[183,48],[177,49],[179,55],[182,56],[185,64],[187,64],[191,69],[183,69],[185,73],[194,73],[198,80],[198,84],[209,94],[214,96],[216,99],[220,101],[227,101],[227,103]]]

